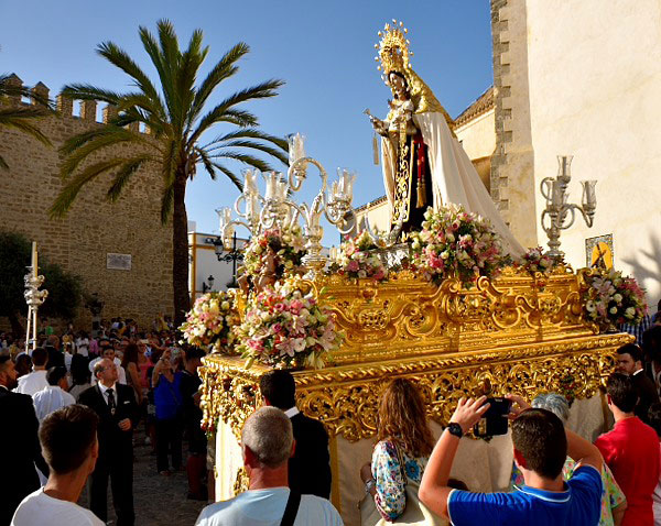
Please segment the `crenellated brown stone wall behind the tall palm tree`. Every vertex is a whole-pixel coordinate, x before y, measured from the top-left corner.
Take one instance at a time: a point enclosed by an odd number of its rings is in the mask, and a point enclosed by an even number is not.
[[[37,86],[47,92],[43,84]],[[172,229],[160,221],[158,167],[137,173],[115,204],[106,200],[111,177],[100,176],[79,193],[64,219],[48,219],[48,208],[62,188],[57,149],[69,136],[104,125],[97,122],[96,102],[80,105],[77,117],[73,108],[78,105],[63,97],[57,102],[61,114],[39,121],[53,147],[0,128],[0,153],[10,166],[0,173],[0,229],[35,240],[41,254],[79,275],[85,291],[98,293],[105,303],[104,318],[123,316],[151,325],[156,314],[172,314]],[[106,109],[104,118],[108,117]],[[130,154],[134,149],[121,151]],[[105,153],[95,160],[109,156]],[[107,269],[108,253],[130,254],[131,270]],[[89,321],[89,313],[80,308],[76,325],[87,328]]]

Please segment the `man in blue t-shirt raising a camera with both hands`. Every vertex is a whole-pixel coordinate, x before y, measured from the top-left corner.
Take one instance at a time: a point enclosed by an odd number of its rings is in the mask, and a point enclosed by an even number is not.
[[[420,484],[420,500],[454,526],[596,526],[602,507],[599,450],[564,429],[553,413],[532,409],[520,396],[509,398],[518,406],[511,415],[512,442],[525,485],[513,493],[470,493],[447,486],[459,438],[488,408],[485,396],[462,398],[434,447]],[[562,467],[567,454],[578,465],[565,483]]]

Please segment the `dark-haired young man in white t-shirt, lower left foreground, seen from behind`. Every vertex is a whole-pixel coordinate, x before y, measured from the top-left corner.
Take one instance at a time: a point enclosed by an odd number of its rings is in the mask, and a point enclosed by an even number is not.
[[[98,457],[97,425],[96,414],[82,405],[64,407],[44,419],[39,438],[51,468],[48,482],[23,498],[11,526],[104,526],[76,504]]]

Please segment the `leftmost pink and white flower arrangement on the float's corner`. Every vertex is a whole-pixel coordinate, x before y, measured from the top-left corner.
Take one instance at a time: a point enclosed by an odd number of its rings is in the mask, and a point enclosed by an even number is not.
[[[235,291],[210,292],[195,300],[180,330],[191,346],[232,354],[234,328],[239,322]]]

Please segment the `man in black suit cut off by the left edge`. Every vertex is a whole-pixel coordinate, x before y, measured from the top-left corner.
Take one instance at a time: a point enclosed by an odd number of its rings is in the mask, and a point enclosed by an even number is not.
[[[39,445],[39,420],[32,397],[12,393],[17,386],[14,364],[8,355],[0,357],[0,525],[11,523],[21,501],[39,489],[34,464],[44,473],[48,467]]]

